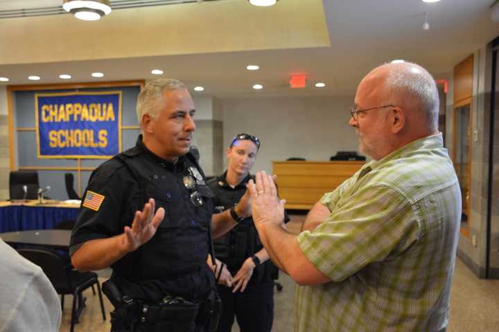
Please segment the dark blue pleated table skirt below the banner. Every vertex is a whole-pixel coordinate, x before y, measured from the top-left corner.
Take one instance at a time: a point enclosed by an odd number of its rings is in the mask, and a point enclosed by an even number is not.
[[[76,220],[78,208],[11,205],[0,208],[0,232],[46,230],[67,219]]]

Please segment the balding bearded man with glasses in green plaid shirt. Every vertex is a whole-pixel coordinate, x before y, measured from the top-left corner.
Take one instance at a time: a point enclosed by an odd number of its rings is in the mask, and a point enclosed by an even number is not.
[[[295,331],[446,330],[462,206],[438,113],[435,80],[421,66],[371,71],[349,124],[373,160],[322,196],[298,236],[281,228],[272,177],[256,174],[256,227],[300,285]]]

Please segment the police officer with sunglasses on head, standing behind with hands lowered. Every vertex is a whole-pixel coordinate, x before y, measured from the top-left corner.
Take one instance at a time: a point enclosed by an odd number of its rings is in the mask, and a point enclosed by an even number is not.
[[[219,332],[230,332],[234,316],[241,332],[270,332],[274,317],[274,279],[277,268],[263,248],[251,217],[240,218],[234,206],[246,192],[260,141],[240,133],[227,149],[227,171],[208,182],[215,211],[229,210],[238,225],[224,237],[216,239],[218,293],[222,299]],[[254,179],[254,178],[253,178]],[[286,214],[286,221],[288,216]]]

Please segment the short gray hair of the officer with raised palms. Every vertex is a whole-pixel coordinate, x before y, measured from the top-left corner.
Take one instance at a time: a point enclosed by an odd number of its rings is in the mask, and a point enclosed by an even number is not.
[[[139,93],[137,97],[137,118],[142,125],[142,117],[145,114],[153,119],[159,117],[161,105],[163,104],[163,91],[187,89],[187,86],[174,78],[159,78],[151,81]]]

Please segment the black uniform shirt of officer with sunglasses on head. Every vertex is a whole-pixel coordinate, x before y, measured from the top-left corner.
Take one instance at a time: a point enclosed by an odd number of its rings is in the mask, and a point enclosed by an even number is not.
[[[225,211],[236,205],[245,194],[248,181],[254,180],[254,176],[248,174],[243,181],[233,188],[227,183],[226,176],[227,171],[222,176],[208,181],[208,186],[215,194],[213,213]],[[288,221],[289,217],[285,212],[284,222]],[[259,252],[262,248],[263,245],[251,216],[239,221],[230,232],[215,240],[216,257],[227,264],[232,275],[235,275],[243,266],[245,259]],[[277,279],[277,267],[269,259],[255,268],[248,286],[251,287],[252,284],[261,282],[272,282],[273,279]]]

